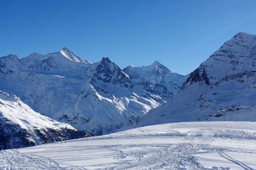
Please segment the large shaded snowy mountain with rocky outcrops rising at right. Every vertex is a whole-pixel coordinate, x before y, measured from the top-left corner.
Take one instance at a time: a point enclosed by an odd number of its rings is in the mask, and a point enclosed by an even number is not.
[[[179,121],[256,121],[256,35],[238,33],[194,72],[170,102],[140,125]]]

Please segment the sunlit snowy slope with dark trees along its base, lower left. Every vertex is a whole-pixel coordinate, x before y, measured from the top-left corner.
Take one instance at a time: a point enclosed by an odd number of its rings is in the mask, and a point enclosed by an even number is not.
[[[16,95],[0,91],[0,150],[88,136],[33,111]]]

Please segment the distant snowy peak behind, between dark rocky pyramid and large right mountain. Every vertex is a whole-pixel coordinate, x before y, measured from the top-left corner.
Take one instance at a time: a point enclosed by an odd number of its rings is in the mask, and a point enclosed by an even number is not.
[[[149,66],[127,66],[123,71],[132,77],[146,79],[155,85],[163,84],[173,94],[180,91],[183,82],[188,78],[188,75],[171,72],[158,61]]]

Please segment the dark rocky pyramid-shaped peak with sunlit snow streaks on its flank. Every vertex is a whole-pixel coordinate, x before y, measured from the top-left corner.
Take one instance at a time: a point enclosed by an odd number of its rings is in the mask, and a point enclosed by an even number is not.
[[[93,68],[95,70],[82,87],[75,106],[76,112],[83,113],[84,124],[74,125],[92,134],[135,127],[150,109],[172,97],[164,86],[129,77],[109,58],[103,58]]]

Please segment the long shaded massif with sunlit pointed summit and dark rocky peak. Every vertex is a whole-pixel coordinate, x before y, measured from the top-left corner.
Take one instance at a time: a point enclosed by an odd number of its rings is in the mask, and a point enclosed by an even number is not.
[[[0,58],[0,81],[34,111],[95,135],[135,127],[172,97],[168,87],[130,77],[109,58],[89,63],[67,48]]]

